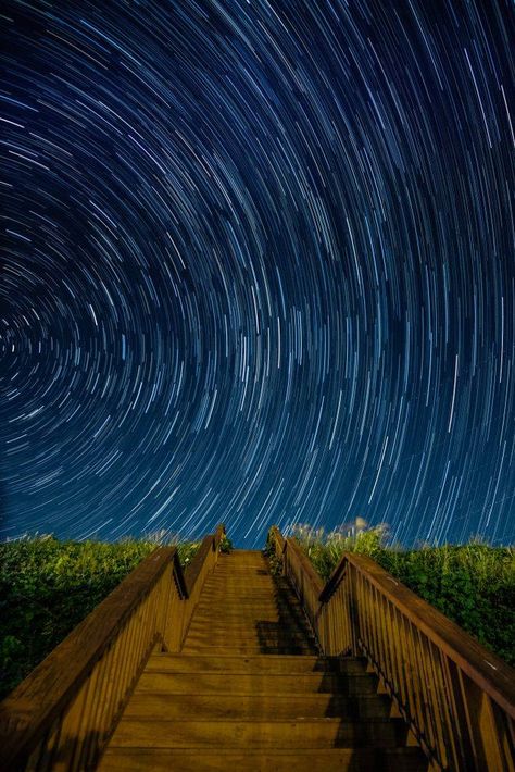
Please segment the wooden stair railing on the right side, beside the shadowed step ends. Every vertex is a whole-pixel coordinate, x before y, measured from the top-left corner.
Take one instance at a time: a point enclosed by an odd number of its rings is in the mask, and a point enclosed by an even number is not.
[[[431,770],[513,772],[512,668],[369,558],[346,552],[324,585],[297,539],[268,545],[323,652],[366,657]]]

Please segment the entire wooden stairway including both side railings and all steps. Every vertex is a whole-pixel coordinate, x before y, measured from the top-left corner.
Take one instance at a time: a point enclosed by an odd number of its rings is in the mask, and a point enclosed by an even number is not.
[[[156,549],[0,703],[0,772],[515,772],[515,673],[374,561]]]

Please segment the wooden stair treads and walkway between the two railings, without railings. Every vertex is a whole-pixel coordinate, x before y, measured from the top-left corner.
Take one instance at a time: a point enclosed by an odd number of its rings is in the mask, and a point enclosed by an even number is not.
[[[365,660],[319,655],[261,552],[221,555],[179,653],[153,653],[100,770],[426,770]]]

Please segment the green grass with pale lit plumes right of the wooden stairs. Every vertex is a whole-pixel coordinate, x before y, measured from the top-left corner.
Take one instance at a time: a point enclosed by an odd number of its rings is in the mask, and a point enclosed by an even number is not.
[[[388,527],[325,533],[297,525],[290,534],[327,580],[343,552],[367,555],[439,609],[487,649],[515,667],[515,549],[479,540],[402,549],[388,544]]]

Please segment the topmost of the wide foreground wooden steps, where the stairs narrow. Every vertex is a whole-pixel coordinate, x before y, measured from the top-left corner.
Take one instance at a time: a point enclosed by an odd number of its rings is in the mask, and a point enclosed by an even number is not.
[[[146,672],[265,672],[265,673],[313,673],[342,672],[364,673],[365,660],[357,657],[316,657],[316,656],[274,656],[258,655],[255,657],[210,657],[205,655],[169,655],[156,653],[149,659]]]

